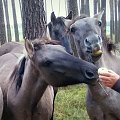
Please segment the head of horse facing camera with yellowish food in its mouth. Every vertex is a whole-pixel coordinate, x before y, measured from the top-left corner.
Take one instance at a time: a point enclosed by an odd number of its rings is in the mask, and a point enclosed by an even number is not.
[[[101,26],[104,10],[93,17],[76,18],[70,26],[78,53],[84,60],[95,62],[102,55]]]

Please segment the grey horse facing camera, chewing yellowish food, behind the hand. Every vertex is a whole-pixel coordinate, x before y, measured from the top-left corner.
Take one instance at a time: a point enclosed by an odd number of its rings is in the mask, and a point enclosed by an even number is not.
[[[120,75],[120,56],[115,55],[113,45],[101,37],[103,13],[104,10],[93,17],[74,19],[70,32],[82,59]],[[120,94],[115,90],[105,87],[100,81],[95,82],[94,86],[88,85],[86,108],[91,120],[120,120],[119,105]]]

